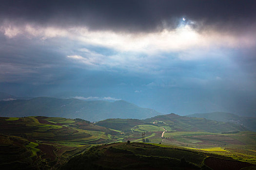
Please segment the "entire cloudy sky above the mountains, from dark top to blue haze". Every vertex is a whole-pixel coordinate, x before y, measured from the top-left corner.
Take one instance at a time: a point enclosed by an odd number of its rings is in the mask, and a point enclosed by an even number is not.
[[[256,117],[255,0],[0,0],[0,91]]]

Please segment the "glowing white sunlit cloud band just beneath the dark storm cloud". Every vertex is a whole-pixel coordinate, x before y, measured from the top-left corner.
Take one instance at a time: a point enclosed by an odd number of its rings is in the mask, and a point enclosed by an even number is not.
[[[182,19],[181,19],[182,20]],[[175,30],[163,29],[153,33],[115,33],[112,31],[89,31],[86,27],[56,28],[39,27],[32,24],[15,25],[5,22],[0,27],[1,32],[8,38],[20,34],[28,38],[54,38],[64,37],[78,40],[84,45],[94,45],[114,49],[118,52],[141,52],[153,55],[158,52],[185,51],[197,48],[228,47],[236,48],[255,45],[253,37],[245,35],[231,35],[214,31],[197,32],[192,28],[195,21],[180,23]],[[79,59],[79,58],[77,58]]]

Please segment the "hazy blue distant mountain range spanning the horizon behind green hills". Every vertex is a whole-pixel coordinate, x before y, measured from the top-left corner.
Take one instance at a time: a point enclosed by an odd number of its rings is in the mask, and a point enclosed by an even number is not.
[[[148,119],[161,115],[161,113],[148,108],[141,108],[135,104],[125,101],[83,101],[79,99],[58,99],[52,97],[16,97],[0,92],[0,116],[2,117],[25,117],[25,116],[47,116],[62,118],[79,118],[89,121],[100,121],[104,119]],[[169,119],[169,117],[163,119]],[[187,117],[204,118],[215,121],[223,121],[242,125],[251,131],[256,131],[256,118],[241,117],[232,113],[213,112],[197,113],[179,117],[182,121],[176,124],[184,124],[183,121],[194,121]],[[174,119],[174,118],[172,118]],[[197,122],[197,119],[195,119]],[[207,122],[207,120],[205,120]],[[209,123],[209,122],[208,122]],[[210,123],[211,124],[211,123]],[[208,124],[207,127],[210,127]],[[195,128],[197,126],[195,125]]]

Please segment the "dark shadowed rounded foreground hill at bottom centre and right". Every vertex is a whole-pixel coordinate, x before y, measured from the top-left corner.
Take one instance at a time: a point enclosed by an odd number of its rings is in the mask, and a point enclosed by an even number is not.
[[[240,170],[253,164],[172,146],[114,143],[91,148],[61,170]]]

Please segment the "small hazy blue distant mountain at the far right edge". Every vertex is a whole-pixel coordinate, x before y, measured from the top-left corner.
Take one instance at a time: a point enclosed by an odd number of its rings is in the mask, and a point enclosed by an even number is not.
[[[232,113],[213,112],[213,113],[196,113],[187,115],[188,117],[205,118],[223,122],[231,122],[238,125],[243,125],[251,131],[256,132],[256,118],[241,117]]]

